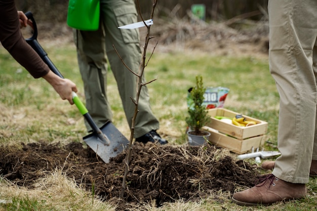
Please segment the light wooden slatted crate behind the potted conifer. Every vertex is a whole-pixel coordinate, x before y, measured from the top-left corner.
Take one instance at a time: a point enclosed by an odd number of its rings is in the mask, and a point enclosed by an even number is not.
[[[209,109],[210,122],[204,127],[211,133],[209,142],[229,149],[232,152],[243,154],[252,149],[263,146],[267,132],[267,122],[243,115],[246,120],[257,122],[255,125],[240,127],[220,121],[214,116],[226,116],[233,118],[236,114],[224,108]]]

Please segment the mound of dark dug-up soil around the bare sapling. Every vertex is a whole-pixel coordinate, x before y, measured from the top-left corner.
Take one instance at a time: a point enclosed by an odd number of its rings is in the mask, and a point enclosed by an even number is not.
[[[19,186],[33,188],[34,180],[44,177],[44,171],[56,167],[78,184],[85,183],[95,192],[117,204],[124,175],[126,152],[104,163],[81,143],[67,146],[32,143],[15,153],[0,148],[0,174]],[[177,199],[200,200],[211,191],[230,191],[238,185],[252,187],[258,172],[248,163],[234,161],[215,146],[159,146],[135,143],[127,179],[124,210],[140,201],[156,200],[157,205]]]

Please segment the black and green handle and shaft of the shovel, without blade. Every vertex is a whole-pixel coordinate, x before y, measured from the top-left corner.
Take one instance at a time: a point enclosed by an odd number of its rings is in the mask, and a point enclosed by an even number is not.
[[[42,60],[49,66],[49,68],[59,77],[64,78],[63,75],[59,72],[59,70],[56,68],[56,66],[53,64],[53,62],[48,57],[48,54],[44,51],[41,45],[39,45],[37,41],[37,27],[35,20],[33,18],[33,15],[31,12],[25,13],[26,17],[32,21],[32,28],[33,28],[33,34],[31,37],[25,39],[26,42],[36,51],[36,53],[42,58]],[[75,92],[72,92],[72,100],[74,104],[77,106],[78,110],[80,110],[81,114],[85,117],[93,131],[97,134],[98,138],[103,142],[105,145],[110,145],[110,140],[108,137],[102,133],[102,131],[98,128],[96,123],[94,122],[93,118],[89,114],[87,108],[82,103],[82,101],[78,98]]]

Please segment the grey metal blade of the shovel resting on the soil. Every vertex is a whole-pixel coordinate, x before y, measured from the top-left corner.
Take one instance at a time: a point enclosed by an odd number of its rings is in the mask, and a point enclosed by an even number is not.
[[[108,163],[111,157],[115,157],[128,147],[129,140],[110,121],[105,123],[100,130],[109,138],[109,146],[101,142],[96,133],[85,136],[83,140],[105,163]]]

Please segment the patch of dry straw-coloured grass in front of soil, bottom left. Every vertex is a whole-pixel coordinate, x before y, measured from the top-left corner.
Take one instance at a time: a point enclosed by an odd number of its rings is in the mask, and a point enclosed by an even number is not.
[[[115,210],[115,207],[103,202],[101,198],[93,198],[91,192],[80,188],[61,170],[56,169],[54,172],[43,172],[43,174],[45,176],[42,179],[34,181],[34,189],[31,190],[1,179],[1,198],[7,199],[8,202],[38,201],[41,202],[38,204],[42,207],[40,210],[51,210],[51,208],[52,210]],[[10,203],[7,206],[10,207]]]

